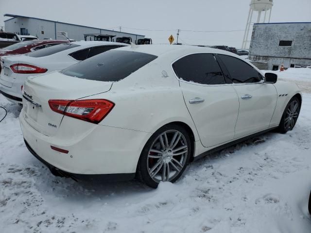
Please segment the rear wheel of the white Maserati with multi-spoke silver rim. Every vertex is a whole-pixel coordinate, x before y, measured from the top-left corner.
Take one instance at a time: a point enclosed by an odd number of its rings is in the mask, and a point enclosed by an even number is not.
[[[152,188],[161,181],[174,183],[185,171],[191,156],[188,132],[179,125],[165,125],[144,146],[138,161],[138,179]]]

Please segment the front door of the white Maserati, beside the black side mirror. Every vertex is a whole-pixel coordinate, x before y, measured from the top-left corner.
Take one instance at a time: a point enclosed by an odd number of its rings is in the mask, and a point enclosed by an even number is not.
[[[267,129],[276,108],[277,93],[273,84],[264,83],[262,75],[242,59],[218,54],[225,64],[239,101],[235,137]]]

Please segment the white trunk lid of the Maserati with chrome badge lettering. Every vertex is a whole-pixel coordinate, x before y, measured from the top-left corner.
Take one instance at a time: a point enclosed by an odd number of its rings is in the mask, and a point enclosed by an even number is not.
[[[64,115],[52,111],[49,100],[81,99],[107,92],[111,86],[109,82],[79,79],[58,72],[30,77],[23,89],[22,115],[36,131],[52,136]]]

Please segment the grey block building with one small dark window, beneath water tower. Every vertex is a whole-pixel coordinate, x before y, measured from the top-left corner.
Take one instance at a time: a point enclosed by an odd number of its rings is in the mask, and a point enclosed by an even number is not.
[[[254,24],[248,58],[270,70],[311,66],[311,22]]]

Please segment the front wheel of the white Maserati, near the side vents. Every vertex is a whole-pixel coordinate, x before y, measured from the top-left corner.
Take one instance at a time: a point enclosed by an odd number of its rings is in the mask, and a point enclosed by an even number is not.
[[[280,133],[287,133],[293,130],[300,112],[301,103],[297,97],[293,97],[285,107],[278,131]]]

